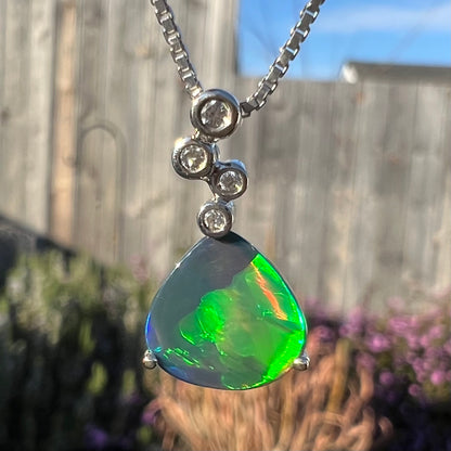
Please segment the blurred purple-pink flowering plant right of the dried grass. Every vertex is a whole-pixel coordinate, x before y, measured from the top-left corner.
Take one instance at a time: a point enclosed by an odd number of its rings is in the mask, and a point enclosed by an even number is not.
[[[405,314],[402,299],[389,304],[384,317],[356,310],[339,331],[357,364],[374,372],[373,405],[396,433],[386,449],[450,451],[451,293],[427,299],[417,314]]]

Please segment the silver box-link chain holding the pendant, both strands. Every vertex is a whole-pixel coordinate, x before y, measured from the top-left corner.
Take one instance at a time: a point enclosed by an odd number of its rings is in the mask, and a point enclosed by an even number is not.
[[[279,80],[286,74],[289,63],[297,56],[300,44],[306,40],[310,33],[310,25],[315,21],[320,13],[320,7],[325,0],[310,0],[299,14],[299,21],[292,28],[289,38],[281,48],[279,56],[271,64],[268,74],[259,81],[257,90],[245,101],[240,103],[243,117],[250,116],[255,109],[260,109],[267,103],[278,87]],[[151,0],[155,9],[155,15],[163,28],[163,36],[169,44],[170,54],[176,63],[179,76],[184,83],[184,89],[191,99],[197,98],[203,88],[197,80],[196,72],[191,64],[186,48],[183,44],[179,27],[175,22],[175,16],[167,0]]]

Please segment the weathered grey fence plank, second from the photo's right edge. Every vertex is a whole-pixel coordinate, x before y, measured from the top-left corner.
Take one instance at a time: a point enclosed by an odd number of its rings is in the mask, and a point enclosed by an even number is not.
[[[389,87],[389,103],[383,113],[384,137],[381,152],[376,155],[374,168],[376,179],[374,196],[377,199],[375,211],[375,243],[373,279],[377,285],[378,298],[399,293],[402,279],[403,240],[408,224],[404,223],[408,209],[410,163],[415,127],[415,86],[399,90]],[[388,132],[389,131],[389,132]],[[398,293],[397,293],[398,291]]]

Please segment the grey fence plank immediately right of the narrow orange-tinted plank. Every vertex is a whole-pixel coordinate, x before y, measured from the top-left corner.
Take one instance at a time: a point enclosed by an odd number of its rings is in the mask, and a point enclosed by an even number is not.
[[[79,53],[77,117],[77,188],[76,188],[76,242],[99,255],[103,227],[103,185],[107,177],[103,165],[112,152],[105,121],[106,55],[108,52],[108,4],[104,0],[79,2],[77,21]],[[112,246],[113,243],[109,243]]]

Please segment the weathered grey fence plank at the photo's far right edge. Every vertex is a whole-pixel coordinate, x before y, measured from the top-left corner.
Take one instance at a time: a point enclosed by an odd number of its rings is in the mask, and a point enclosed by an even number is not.
[[[451,217],[449,212],[447,215],[451,177],[449,99],[450,88],[418,88],[415,126],[412,130],[414,138],[403,268],[404,278],[413,287],[421,287],[426,280],[434,284],[437,272],[441,271],[437,267],[437,237],[440,245],[448,248],[448,255],[451,248]],[[448,272],[444,279],[449,281],[450,274]]]

